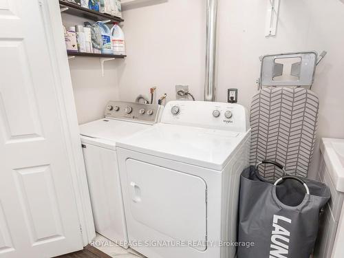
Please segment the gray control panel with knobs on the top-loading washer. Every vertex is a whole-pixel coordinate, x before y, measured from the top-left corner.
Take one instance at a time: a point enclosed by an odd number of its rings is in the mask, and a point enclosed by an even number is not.
[[[160,122],[162,110],[161,105],[109,101],[105,107],[105,117],[155,123]]]

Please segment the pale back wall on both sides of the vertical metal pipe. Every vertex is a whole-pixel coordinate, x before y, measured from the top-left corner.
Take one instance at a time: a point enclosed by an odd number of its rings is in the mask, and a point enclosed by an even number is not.
[[[173,99],[181,84],[202,100],[206,0],[149,3],[123,13],[128,57],[117,70],[120,98],[148,95],[156,85],[158,95]],[[237,87],[239,103],[249,108],[263,54],[327,50],[313,86],[321,100],[319,136],[344,138],[344,3],[282,0],[277,36],[266,39],[267,3],[219,0],[217,100],[226,101],[226,89]]]

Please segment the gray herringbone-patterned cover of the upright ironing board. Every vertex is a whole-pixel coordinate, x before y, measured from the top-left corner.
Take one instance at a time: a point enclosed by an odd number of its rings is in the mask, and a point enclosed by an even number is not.
[[[252,100],[250,164],[275,160],[291,175],[307,177],[316,139],[319,98],[303,88],[268,87]],[[267,180],[283,172],[271,164],[259,166]]]

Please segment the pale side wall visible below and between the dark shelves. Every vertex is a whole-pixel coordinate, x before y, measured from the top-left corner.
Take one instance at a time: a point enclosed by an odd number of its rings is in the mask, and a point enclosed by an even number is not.
[[[66,28],[83,25],[85,21],[64,13],[62,18]],[[122,59],[105,62],[105,76],[102,77],[99,58],[69,59],[79,124],[103,118],[107,101],[118,100],[116,70],[122,62]]]

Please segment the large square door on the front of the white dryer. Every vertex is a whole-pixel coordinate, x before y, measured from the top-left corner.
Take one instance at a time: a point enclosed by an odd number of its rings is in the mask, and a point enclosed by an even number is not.
[[[144,241],[186,241],[197,250],[206,250],[204,180],[133,159],[127,159],[126,165],[134,221],[128,225],[129,235]],[[149,239],[142,239],[143,235]]]

